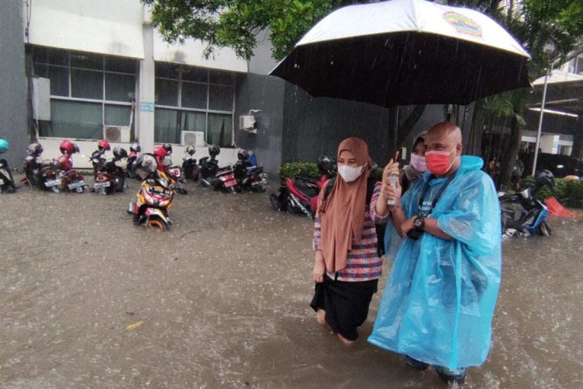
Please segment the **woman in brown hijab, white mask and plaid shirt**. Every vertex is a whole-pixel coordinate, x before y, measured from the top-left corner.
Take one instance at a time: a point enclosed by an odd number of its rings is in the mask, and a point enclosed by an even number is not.
[[[338,178],[326,194],[326,181],[318,197],[314,223],[315,293],[310,306],[317,321],[345,344],[358,338],[357,328],[367,318],[368,305],[377,292],[382,259],[377,255],[375,223],[386,222],[375,213],[382,185],[367,199],[371,159],[366,143],[348,138],[338,147]],[[398,163],[385,173],[398,174]],[[385,174],[385,175],[386,175]],[[388,216],[387,216],[388,217]]]

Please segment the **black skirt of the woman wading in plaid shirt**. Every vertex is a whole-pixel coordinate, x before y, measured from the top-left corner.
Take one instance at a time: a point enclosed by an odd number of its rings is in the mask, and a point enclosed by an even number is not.
[[[360,327],[368,316],[368,306],[377,292],[378,279],[370,281],[335,281],[324,276],[324,282],[316,283],[310,306],[314,311],[326,311],[325,320],[332,330],[343,338],[355,341]]]

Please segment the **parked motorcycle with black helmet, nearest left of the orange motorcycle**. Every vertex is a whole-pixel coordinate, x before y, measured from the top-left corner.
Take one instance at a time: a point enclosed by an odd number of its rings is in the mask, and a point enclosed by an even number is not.
[[[111,160],[107,160],[105,150],[96,150],[90,157],[95,178],[93,191],[102,195],[123,192],[127,186],[122,159],[128,157],[128,152],[120,147],[115,147],[113,155]]]

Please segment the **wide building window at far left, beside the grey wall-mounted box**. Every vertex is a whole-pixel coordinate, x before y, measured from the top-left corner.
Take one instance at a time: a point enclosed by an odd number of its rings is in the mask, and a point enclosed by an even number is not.
[[[41,136],[101,139],[104,125],[131,125],[136,61],[31,46],[33,74],[51,80],[51,121]]]

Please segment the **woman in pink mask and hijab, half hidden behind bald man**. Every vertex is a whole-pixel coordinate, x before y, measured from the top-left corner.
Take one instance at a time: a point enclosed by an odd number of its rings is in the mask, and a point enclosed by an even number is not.
[[[413,149],[411,150],[411,160],[407,166],[401,171],[399,176],[399,184],[401,184],[402,193],[405,193],[410,186],[417,181],[418,178],[423,177],[423,173],[427,171],[425,166],[425,135],[427,131],[415,137],[413,141]],[[387,223],[385,227],[385,256],[387,258],[395,258],[399,247],[401,246],[401,236],[395,231],[392,223]]]

